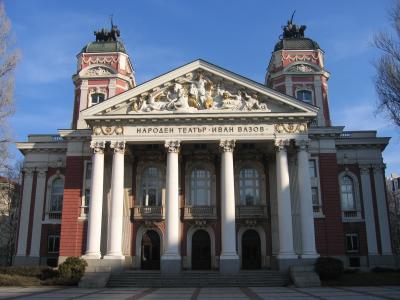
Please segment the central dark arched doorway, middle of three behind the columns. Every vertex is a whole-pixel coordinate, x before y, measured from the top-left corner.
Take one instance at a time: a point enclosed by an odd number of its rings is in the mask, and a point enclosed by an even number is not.
[[[192,237],[192,269],[211,269],[211,239],[205,230],[197,230]]]

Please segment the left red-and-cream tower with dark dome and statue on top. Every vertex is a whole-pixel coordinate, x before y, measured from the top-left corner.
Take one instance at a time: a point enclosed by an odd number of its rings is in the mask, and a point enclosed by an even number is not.
[[[96,40],[87,44],[77,55],[77,72],[72,76],[75,101],[73,129],[87,128],[80,112],[90,106],[123,93],[136,85],[135,72],[120,31],[111,22],[111,29],[95,31]]]

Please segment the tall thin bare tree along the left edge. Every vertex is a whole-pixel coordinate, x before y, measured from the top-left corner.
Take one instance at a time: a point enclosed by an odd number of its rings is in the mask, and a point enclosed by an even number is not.
[[[10,133],[8,118],[14,113],[14,70],[18,51],[14,47],[11,22],[7,18],[4,3],[0,0],[0,174],[7,173]]]

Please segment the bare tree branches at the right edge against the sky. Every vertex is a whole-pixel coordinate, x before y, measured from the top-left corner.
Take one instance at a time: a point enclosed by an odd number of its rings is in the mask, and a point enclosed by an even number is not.
[[[395,35],[381,32],[374,37],[374,45],[383,53],[376,61],[376,91],[378,110],[400,127],[400,1],[396,0],[390,12]]]

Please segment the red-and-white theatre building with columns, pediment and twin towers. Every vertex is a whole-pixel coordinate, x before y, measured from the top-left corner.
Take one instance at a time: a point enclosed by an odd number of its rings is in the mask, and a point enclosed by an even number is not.
[[[331,124],[330,73],[304,27],[284,27],[264,83],[195,60],[137,84],[118,36],[96,32],[77,55],[71,128],[17,143],[16,265],[80,256],[235,273],[319,256],[394,262],[389,138]]]

